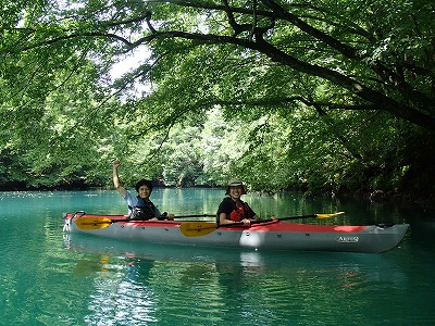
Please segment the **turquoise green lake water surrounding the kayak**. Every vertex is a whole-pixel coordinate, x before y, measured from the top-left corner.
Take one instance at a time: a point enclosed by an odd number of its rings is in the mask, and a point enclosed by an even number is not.
[[[156,189],[162,211],[213,213],[213,189]],[[383,254],[260,252],[62,233],[63,212],[125,213],[115,191],[0,192],[0,325],[434,325],[434,210],[299,195],[245,197],[263,217],[411,224]]]

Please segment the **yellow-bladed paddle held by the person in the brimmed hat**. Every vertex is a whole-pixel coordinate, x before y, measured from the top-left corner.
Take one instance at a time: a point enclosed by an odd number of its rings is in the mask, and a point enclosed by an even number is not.
[[[331,214],[311,214],[311,215],[301,215],[301,216],[290,216],[290,217],[279,217],[279,218],[270,218],[270,220],[259,220],[259,221],[251,221],[251,224],[259,224],[259,223],[268,223],[268,222],[273,222],[273,221],[286,221],[286,220],[299,220],[299,218],[309,218],[309,217],[316,217],[316,218],[330,218],[336,215],[344,214],[345,212],[337,212],[337,213],[331,213]],[[225,224],[221,225],[224,227],[227,226],[240,226],[244,225],[243,222],[236,222],[234,224]],[[220,226],[217,223],[211,223],[211,222],[187,222],[183,223],[179,226],[179,230],[182,231],[183,235],[186,237],[200,237],[200,236],[206,236],[208,234],[211,234],[215,229],[217,229]]]

